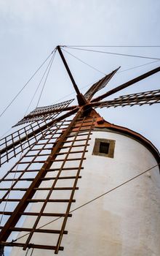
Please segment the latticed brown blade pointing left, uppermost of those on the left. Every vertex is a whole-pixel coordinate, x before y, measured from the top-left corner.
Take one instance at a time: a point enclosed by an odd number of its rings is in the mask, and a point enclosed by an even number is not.
[[[75,106],[68,108],[68,105],[70,105],[73,100],[74,99],[70,99],[65,102],[57,103],[55,105],[36,108],[35,110],[31,111],[31,113],[29,113],[27,116],[25,116],[22,120],[18,121],[14,127],[20,124],[26,124],[28,122],[53,119],[57,117],[59,113],[75,108]]]

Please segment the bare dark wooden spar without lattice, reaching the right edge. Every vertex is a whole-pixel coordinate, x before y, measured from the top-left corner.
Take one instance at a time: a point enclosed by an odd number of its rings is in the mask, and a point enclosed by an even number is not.
[[[100,97],[92,99],[91,102],[99,102],[101,99],[104,99],[104,98],[110,96],[111,94],[115,94],[117,91],[121,91],[122,89],[125,89],[128,86],[131,86],[132,84],[139,82],[140,80],[148,78],[150,75],[153,75],[159,71],[160,71],[160,67],[157,67],[156,69],[152,69],[151,71],[146,72],[145,74],[140,75],[139,77],[134,78],[132,80],[129,80],[127,83],[123,83],[121,86],[118,86],[118,87],[112,89],[111,91],[106,92],[105,94],[101,95]]]

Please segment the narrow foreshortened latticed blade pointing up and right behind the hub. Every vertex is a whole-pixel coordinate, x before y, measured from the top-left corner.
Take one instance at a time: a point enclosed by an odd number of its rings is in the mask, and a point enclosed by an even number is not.
[[[108,82],[111,80],[111,78],[113,78],[113,75],[116,74],[116,72],[119,70],[119,68],[113,70],[113,72],[111,72],[110,74],[105,75],[105,77],[100,79],[99,81],[97,81],[97,83],[94,83],[91,86],[91,88],[89,88],[89,90],[86,92],[86,94],[84,94],[84,97],[87,100],[92,99],[92,97],[95,95],[95,93],[97,91],[100,91],[101,89],[103,89],[108,84]]]

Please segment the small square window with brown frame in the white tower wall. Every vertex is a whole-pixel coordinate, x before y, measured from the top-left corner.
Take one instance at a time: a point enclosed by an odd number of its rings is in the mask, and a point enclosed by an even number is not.
[[[95,139],[92,154],[101,157],[114,157],[115,140]]]

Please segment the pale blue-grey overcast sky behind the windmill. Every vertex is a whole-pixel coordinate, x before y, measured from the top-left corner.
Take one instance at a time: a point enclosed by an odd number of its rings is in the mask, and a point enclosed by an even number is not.
[[[160,45],[159,12],[159,0],[0,0],[1,112],[57,45]],[[96,50],[160,58],[160,48]],[[119,66],[119,71],[122,71],[152,61],[80,50],[68,51],[105,74]],[[102,73],[87,67],[67,53],[64,54],[82,92],[88,89],[89,84],[102,78]],[[158,66],[159,62],[155,62],[119,72],[108,84],[108,89]],[[159,78],[160,74],[157,73],[113,97],[159,89]],[[40,75],[28,84],[14,104],[1,116],[0,135],[24,116],[39,79]],[[73,92],[71,81],[56,53],[40,105],[71,99],[75,97]],[[38,97],[39,94],[30,110],[35,108]],[[158,104],[97,111],[106,121],[140,132],[159,148]]]

